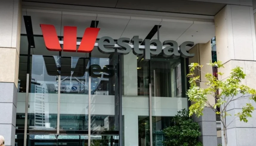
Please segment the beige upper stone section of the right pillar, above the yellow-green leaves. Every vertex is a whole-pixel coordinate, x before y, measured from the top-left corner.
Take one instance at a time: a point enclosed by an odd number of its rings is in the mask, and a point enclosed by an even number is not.
[[[254,84],[256,66],[255,15],[253,8],[247,6],[227,5],[215,15],[217,58],[224,63],[221,77],[229,76],[236,66],[243,68],[247,74],[243,84],[256,88]]]

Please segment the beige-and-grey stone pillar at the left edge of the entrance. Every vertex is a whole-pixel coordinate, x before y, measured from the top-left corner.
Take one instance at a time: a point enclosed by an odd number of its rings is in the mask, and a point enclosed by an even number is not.
[[[0,135],[15,145],[21,1],[0,1]]]

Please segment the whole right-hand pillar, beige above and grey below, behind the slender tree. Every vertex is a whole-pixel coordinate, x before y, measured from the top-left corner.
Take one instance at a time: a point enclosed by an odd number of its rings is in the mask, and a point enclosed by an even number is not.
[[[256,67],[256,40],[253,8],[250,6],[226,5],[215,15],[215,34],[217,58],[224,63],[222,78],[228,77],[231,69],[236,66],[243,68],[247,74],[243,84],[256,88],[255,67]],[[234,115],[241,111],[245,103],[251,102],[256,108],[256,104],[249,100],[236,100],[230,104],[228,113]],[[227,127],[228,146],[252,146],[256,139],[256,112],[248,123],[234,120]],[[234,117],[229,116],[227,123]],[[222,142],[224,144],[223,136]]]

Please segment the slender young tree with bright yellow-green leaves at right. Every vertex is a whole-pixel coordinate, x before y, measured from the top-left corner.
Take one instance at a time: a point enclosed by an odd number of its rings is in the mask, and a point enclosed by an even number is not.
[[[223,68],[221,61],[214,63],[209,63],[208,65],[217,66],[218,68]],[[206,82],[204,84],[207,88],[200,88],[197,86],[198,82],[201,82],[200,76],[195,75],[195,70],[199,70],[203,66],[198,63],[191,63],[189,65],[189,83],[190,88],[187,91],[189,100],[193,103],[189,107],[189,116],[195,114],[197,117],[203,115],[203,109],[207,106],[215,111],[216,114],[220,115],[220,121],[222,123],[222,132],[224,136],[225,146],[228,143],[227,139],[227,127],[236,119],[239,118],[240,121],[248,122],[247,118],[252,117],[252,111],[254,107],[251,103],[246,103],[243,106],[242,111],[231,115],[227,112],[227,106],[235,100],[250,99],[256,101],[256,91],[248,86],[241,84],[241,80],[245,79],[246,74],[243,73],[241,67],[237,66],[231,70],[228,77],[222,78],[223,73],[218,72],[218,78],[213,76],[212,73],[205,73]],[[218,94],[216,94],[218,93]],[[211,95],[216,99],[215,104],[210,104],[207,100],[207,96]],[[217,107],[220,108],[220,112],[217,111]],[[232,121],[227,122],[226,117],[233,116]]]

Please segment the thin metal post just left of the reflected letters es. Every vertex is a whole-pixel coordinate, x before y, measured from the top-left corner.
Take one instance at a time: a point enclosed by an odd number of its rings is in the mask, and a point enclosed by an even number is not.
[[[91,66],[91,53],[89,54],[89,66]],[[89,67],[89,72],[91,69]],[[88,80],[88,146],[91,145],[91,75],[89,74]]]

